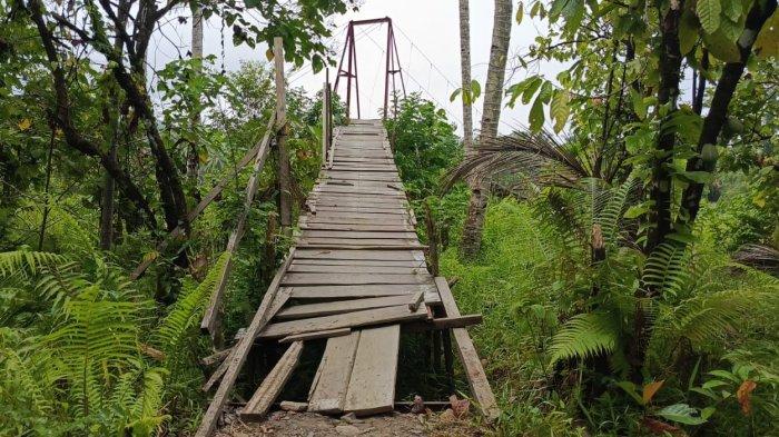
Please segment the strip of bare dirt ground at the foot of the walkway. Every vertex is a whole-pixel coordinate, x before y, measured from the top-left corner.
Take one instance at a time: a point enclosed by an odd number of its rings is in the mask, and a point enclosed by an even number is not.
[[[466,420],[447,414],[414,415],[393,413],[354,419],[313,413],[275,411],[259,424],[244,424],[237,416],[228,418],[216,437],[476,437],[484,433]]]

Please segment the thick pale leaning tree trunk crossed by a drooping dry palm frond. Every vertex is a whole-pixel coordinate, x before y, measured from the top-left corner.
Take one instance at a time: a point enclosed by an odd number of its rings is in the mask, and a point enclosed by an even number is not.
[[[503,101],[503,79],[505,77],[509,41],[511,38],[511,0],[495,0],[495,14],[492,27],[492,48],[490,49],[490,67],[484,86],[484,111],[482,112],[482,129],[479,143],[491,143],[497,137],[497,121],[501,117]],[[479,150],[475,149],[477,153]],[[482,246],[482,227],[486,209],[487,190],[482,183],[471,187],[469,213],[463,226],[461,251],[463,257],[475,256]]]

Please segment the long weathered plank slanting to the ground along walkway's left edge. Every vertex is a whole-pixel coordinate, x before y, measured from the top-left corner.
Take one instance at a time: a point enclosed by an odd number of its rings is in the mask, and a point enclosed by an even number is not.
[[[265,328],[270,320],[268,310],[273,306],[273,301],[278,292],[282,277],[286,272],[287,267],[289,267],[292,264],[294,257],[295,248],[292,248],[287,255],[287,258],[276,271],[276,275],[270,281],[267,291],[265,291],[263,301],[259,305],[259,308],[257,308],[257,312],[255,312],[252,324],[246,329],[246,335],[238,340],[238,344],[233,348],[233,354],[230,354],[230,356],[225,360],[228,368],[225,376],[221,378],[221,383],[219,384],[216,395],[214,395],[214,399],[208,406],[206,414],[203,416],[200,426],[197,428],[197,433],[195,434],[196,437],[208,437],[211,435],[211,433],[214,433],[219,415],[221,414],[221,408],[225,406],[225,403],[227,403],[227,395],[233,389],[233,385],[238,378],[238,373],[244,366],[246,357],[249,355],[249,349],[254,345],[254,338],[256,337],[257,332]]]

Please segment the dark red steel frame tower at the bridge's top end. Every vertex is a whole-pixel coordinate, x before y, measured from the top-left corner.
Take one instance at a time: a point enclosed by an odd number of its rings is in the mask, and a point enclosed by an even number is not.
[[[403,80],[403,71],[401,68],[401,58],[397,54],[397,44],[395,43],[395,31],[392,28],[392,19],[389,17],[374,18],[371,20],[353,20],[349,21],[349,27],[346,30],[346,43],[344,51],[341,53],[341,62],[338,62],[338,73],[335,77],[335,86],[333,90],[338,92],[338,82],[342,77],[346,78],[346,115],[351,116],[352,107],[352,79],[354,79],[355,99],[357,101],[357,118],[359,118],[359,83],[357,82],[357,49],[354,39],[354,28],[356,26],[369,24],[387,24],[387,47],[386,47],[386,66],[384,69],[384,112],[383,117],[387,117],[387,103],[389,101],[389,81],[392,79],[392,91],[397,92],[395,83],[395,75],[401,76],[401,87],[403,96],[406,95],[406,83]],[[348,54],[347,54],[348,53]],[[346,57],[346,69],[344,69],[344,57]]]

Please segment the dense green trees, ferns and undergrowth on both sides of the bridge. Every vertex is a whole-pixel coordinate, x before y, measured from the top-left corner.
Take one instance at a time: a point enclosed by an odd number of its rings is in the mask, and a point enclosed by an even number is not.
[[[151,72],[155,26],[188,10],[62,3],[0,0],[0,435],[186,435],[213,370],[198,361],[214,350],[200,317],[250,173],[234,166],[265,133],[273,71],[181,57]],[[284,33],[287,60],[319,69],[325,17],[347,4],[247,1],[262,28],[235,3],[200,6],[234,27],[234,43]],[[519,3],[516,21],[526,11],[548,29],[519,63],[570,68],[510,83],[504,103],[531,108],[527,128],[476,139],[467,157],[443,110],[398,101],[386,127],[416,216],[431,211],[463,312],[484,315],[471,332],[503,409],[486,433],[776,433],[775,9]],[[486,98],[477,83],[460,95]],[[321,163],[322,102],[293,88],[287,107],[297,213]],[[234,258],[225,338],[290,242],[278,159]],[[481,250],[464,257],[474,181],[491,197]],[[157,251],[184,222],[186,238]]]

